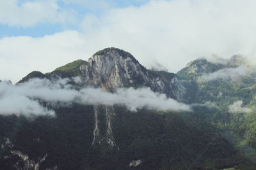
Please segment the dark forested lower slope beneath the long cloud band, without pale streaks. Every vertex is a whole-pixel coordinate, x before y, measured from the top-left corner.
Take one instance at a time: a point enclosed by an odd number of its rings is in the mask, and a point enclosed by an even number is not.
[[[41,169],[130,169],[129,163],[138,159],[143,164],[137,169],[223,169],[249,161],[197,113],[131,112],[115,106],[113,137],[120,150],[113,150],[108,145],[92,147],[92,106],[55,110],[56,117],[1,116],[1,139],[10,138],[15,150],[33,160],[47,153]],[[22,164],[10,151],[1,151],[1,167]],[[12,159],[6,161],[3,155]]]

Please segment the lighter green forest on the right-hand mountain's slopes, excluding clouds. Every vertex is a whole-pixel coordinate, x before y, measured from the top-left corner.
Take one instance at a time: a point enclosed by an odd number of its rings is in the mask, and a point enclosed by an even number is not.
[[[206,64],[207,65],[207,64]],[[208,64],[209,65],[209,64]],[[232,66],[239,66],[235,63]],[[215,66],[218,69],[218,65]],[[207,71],[197,70],[195,75],[189,74],[189,67],[179,72],[180,76],[184,76],[188,83],[184,83],[190,100],[184,99],[188,103],[210,102],[213,107],[211,109],[198,108],[197,113],[204,115],[205,120],[211,122],[222,135],[232,145],[241,152],[243,157],[256,162],[256,80],[253,74],[243,76],[237,80],[232,79],[216,79],[212,81],[200,81],[197,79],[202,74],[212,73],[212,69],[207,67]],[[217,71],[215,70],[215,71]],[[191,86],[193,85],[193,86]],[[243,101],[241,107],[250,108],[250,113],[230,113],[229,106],[236,101]],[[248,169],[249,167],[243,167]]]

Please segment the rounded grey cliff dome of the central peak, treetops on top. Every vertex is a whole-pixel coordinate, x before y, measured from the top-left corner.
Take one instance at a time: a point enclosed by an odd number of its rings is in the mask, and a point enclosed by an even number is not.
[[[147,81],[147,74],[147,69],[130,53],[116,48],[95,53],[88,65],[81,66],[81,77],[88,85],[106,90]]]

